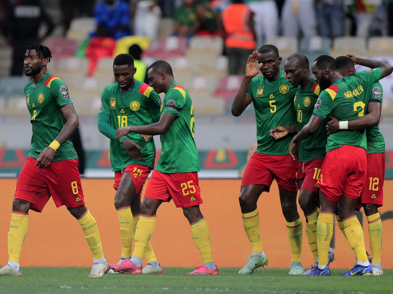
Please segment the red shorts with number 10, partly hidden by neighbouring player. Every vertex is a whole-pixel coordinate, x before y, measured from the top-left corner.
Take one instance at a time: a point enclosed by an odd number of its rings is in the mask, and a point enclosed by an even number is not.
[[[317,181],[321,173],[323,158],[315,158],[307,162],[298,162],[296,179],[303,180],[300,189],[319,193]]]

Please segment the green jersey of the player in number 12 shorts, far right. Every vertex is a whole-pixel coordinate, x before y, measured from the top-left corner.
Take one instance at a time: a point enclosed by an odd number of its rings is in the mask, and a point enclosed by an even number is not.
[[[382,104],[383,90],[379,82],[375,83],[370,93],[369,102],[380,102]],[[375,127],[368,127],[366,129],[367,137],[367,154],[369,153],[384,153],[385,139],[379,130],[378,125]]]

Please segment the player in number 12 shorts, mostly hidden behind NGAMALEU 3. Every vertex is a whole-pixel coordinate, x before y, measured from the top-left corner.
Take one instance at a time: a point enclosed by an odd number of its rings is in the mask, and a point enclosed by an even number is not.
[[[336,58],[336,67],[342,76],[351,76],[356,73],[354,65],[360,60],[356,56],[347,54],[347,56],[339,56]],[[366,181],[362,191],[362,195],[358,199],[356,210],[359,211],[362,207],[367,217],[371,251],[373,260],[371,267],[373,268],[373,275],[380,276],[384,274],[381,267],[381,241],[382,241],[382,221],[378,212],[378,207],[383,205],[384,201],[384,179],[385,179],[385,140],[384,136],[379,130],[378,123],[381,117],[382,108],[382,86],[376,82],[369,88],[370,96],[367,104],[367,112],[365,116],[351,120],[348,122],[348,129],[363,129],[366,128],[367,137],[367,173]],[[374,125],[367,127],[369,124]],[[334,133],[340,130],[339,122],[336,118],[327,124],[329,133]],[[338,225],[343,230],[342,222],[338,217]]]

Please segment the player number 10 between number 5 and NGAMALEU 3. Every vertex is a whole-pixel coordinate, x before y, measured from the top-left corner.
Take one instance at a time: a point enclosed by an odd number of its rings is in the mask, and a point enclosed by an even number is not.
[[[288,81],[297,89],[294,98],[296,125],[277,126],[270,130],[270,135],[276,140],[288,133],[300,132],[301,128],[310,120],[314,105],[320,93],[318,83],[312,80],[309,60],[304,54],[295,53],[288,57],[284,70]],[[318,261],[318,245],[316,240],[316,226],[319,215],[319,187],[317,181],[326,154],[325,125],[329,118],[321,123],[318,130],[298,145],[298,172],[296,178],[299,183],[299,205],[306,216],[306,236],[314,258],[314,266]],[[334,252],[329,248],[329,263],[334,260]],[[301,273],[309,274],[311,269]]]

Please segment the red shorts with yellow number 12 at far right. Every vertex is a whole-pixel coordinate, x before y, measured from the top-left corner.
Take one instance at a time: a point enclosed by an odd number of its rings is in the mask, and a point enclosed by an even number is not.
[[[381,207],[384,204],[385,153],[367,154],[367,174],[362,197],[359,198],[356,210],[363,204],[374,204]]]

